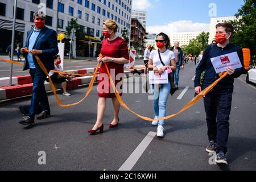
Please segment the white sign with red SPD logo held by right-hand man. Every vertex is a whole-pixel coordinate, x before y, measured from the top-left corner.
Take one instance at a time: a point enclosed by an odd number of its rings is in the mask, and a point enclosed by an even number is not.
[[[242,68],[242,64],[237,52],[213,57],[210,59],[210,61],[212,61],[212,65],[216,73],[225,72],[227,67],[232,67],[234,69]]]

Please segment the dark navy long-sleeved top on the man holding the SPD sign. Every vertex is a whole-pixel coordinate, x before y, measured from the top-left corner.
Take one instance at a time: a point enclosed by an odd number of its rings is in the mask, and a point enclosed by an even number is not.
[[[215,44],[214,46],[208,46],[207,49],[204,51],[203,59],[200,61],[198,67],[196,68],[196,77],[194,81],[195,87],[201,86],[200,76],[203,71],[205,71],[205,77],[202,89],[207,88],[207,86],[209,86],[218,78],[220,78],[220,76],[218,76],[218,74],[215,72],[212,62],[210,61],[210,58],[225,55],[227,53],[232,52],[237,52],[243,67],[243,52],[241,47],[236,46],[234,44],[228,44],[228,46],[224,47],[223,49],[221,47],[218,47],[217,44]],[[214,86],[213,92],[220,94],[232,93],[234,89],[234,78],[240,77],[242,73],[243,68],[236,69],[233,75],[228,75],[225,78],[223,78],[220,82],[218,82],[218,84]]]

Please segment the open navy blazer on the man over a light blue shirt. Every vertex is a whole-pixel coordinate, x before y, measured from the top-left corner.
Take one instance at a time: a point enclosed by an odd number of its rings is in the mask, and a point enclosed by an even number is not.
[[[26,44],[24,47],[29,46],[28,44],[29,44],[30,36],[32,35],[33,31],[34,31],[34,29],[32,28],[31,30],[29,30],[27,32]],[[57,53],[59,53],[56,31],[44,26],[42,28],[42,30],[40,31],[38,38],[36,39],[33,49],[43,51],[43,54],[39,55],[39,58],[42,61],[42,63],[44,64],[44,67],[46,67],[47,71],[54,69],[53,56],[55,56],[55,55],[57,55]],[[34,56],[33,56],[33,59],[34,59],[35,67],[40,68],[38,65],[38,62],[36,61]],[[24,61],[23,71],[26,69],[30,69],[28,66],[27,56]]]

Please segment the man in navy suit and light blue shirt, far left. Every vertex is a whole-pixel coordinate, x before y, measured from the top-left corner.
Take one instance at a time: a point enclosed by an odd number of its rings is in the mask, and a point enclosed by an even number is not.
[[[46,74],[39,67],[35,55],[39,56],[40,60],[49,72],[54,69],[53,56],[59,52],[57,46],[57,34],[56,31],[49,29],[45,26],[45,15],[42,13],[34,14],[35,27],[27,32],[26,45],[30,53],[25,53],[24,49],[20,50],[21,53],[26,54],[24,61],[23,71],[30,69],[30,75],[33,80],[32,98],[30,104],[30,111],[26,117],[22,118],[19,123],[22,125],[34,125],[35,123],[35,108],[40,105],[42,107],[42,113],[40,113],[37,119],[44,119],[50,115],[49,102],[44,88],[44,81],[46,80]]]

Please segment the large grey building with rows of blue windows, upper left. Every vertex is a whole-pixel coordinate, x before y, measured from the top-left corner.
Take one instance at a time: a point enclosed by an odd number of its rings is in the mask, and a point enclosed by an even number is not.
[[[76,56],[89,55],[90,40],[90,56],[97,55],[101,48],[102,23],[107,19],[113,19],[118,23],[118,36],[122,35],[125,27],[130,35],[132,0],[18,0],[15,43],[24,45],[27,31],[34,25],[33,13],[40,9],[40,3],[46,6],[46,26],[56,30],[58,22],[58,33],[66,32],[65,27],[69,26],[71,19],[77,18],[85,38],[81,41],[76,40]],[[0,33],[6,35],[0,36],[0,52],[4,52],[11,43],[13,10],[14,1],[0,0]]]

